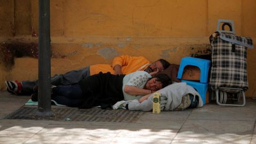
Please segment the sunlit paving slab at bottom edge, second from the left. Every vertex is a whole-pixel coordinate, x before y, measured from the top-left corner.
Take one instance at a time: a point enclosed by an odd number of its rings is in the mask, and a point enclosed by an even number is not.
[[[83,142],[108,142],[111,141],[122,127],[112,128],[111,130],[102,128],[101,126],[87,125],[48,125],[44,129],[34,135],[25,143],[81,143]]]

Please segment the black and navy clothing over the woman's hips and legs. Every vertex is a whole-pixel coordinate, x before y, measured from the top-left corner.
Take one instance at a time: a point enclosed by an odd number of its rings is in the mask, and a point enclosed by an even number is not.
[[[75,85],[54,87],[52,99],[69,107],[106,108],[124,99],[123,78],[124,75],[95,74]]]

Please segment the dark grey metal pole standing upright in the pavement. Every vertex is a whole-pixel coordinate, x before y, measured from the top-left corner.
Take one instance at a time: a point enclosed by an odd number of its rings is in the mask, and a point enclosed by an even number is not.
[[[38,114],[51,113],[50,0],[39,0]]]

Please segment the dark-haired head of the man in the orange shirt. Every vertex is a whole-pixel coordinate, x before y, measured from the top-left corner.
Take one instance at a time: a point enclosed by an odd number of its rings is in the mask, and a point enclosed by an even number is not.
[[[164,59],[159,59],[155,61],[154,63],[151,63],[144,71],[147,71],[148,73],[152,73],[153,71],[163,71],[167,67],[170,66],[170,63]]]

